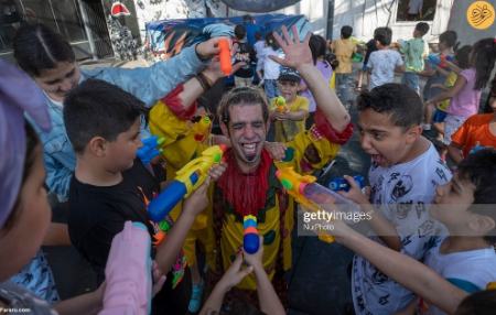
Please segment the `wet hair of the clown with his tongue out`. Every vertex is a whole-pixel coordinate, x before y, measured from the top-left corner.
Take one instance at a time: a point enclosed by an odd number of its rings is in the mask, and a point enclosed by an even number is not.
[[[263,121],[269,120],[269,101],[263,90],[255,87],[237,87],[226,93],[217,108],[217,115],[222,122],[230,121],[229,108],[239,105],[260,105],[263,115]]]

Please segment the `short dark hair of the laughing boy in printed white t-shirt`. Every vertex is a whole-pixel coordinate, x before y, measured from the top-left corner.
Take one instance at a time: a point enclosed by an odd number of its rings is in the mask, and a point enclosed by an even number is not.
[[[408,129],[422,122],[423,105],[419,95],[406,85],[389,83],[363,91],[357,99],[358,111],[371,109],[389,115],[392,124]]]

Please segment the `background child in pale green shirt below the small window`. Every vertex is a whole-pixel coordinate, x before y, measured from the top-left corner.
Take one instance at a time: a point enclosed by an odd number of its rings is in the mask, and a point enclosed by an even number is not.
[[[422,40],[429,32],[429,24],[425,22],[417,23],[413,31],[413,39],[407,42],[400,42],[400,52],[405,54],[405,68],[402,84],[417,91],[420,95],[419,73],[423,70],[423,59],[429,50],[427,43]]]

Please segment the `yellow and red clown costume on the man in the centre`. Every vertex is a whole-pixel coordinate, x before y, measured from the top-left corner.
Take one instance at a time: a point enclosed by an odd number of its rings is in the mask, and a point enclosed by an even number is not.
[[[187,122],[191,115],[191,110],[184,112],[171,101],[157,105],[150,115],[150,130],[153,134],[165,137],[163,154],[175,170],[205,148],[194,140]],[[206,242],[206,262],[218,279],[242,246],[242,217],[247,214],[257,217],[259,235],[263,237],[262,262],[269,278],[272,279],[277,270],[291,268],[294,203],[276,178],[277,167],[293,166],[301,174],[322,169],[336,156],[339,145],[352,133],[351,123],[343,132],[334,131],[317,109],[315,124],[287,143],[287,152],[291,152],[291,156],[287,156],[284,162],[273,161],[263,150],[258,170],[254,174],[242,174],[234,153],[230,150],[225,153],[227,170],[215,184],[214,208],[212,211],[209,206],[206,210],[206,228],[201,230],[201,240]],[[168,170],[168,177],[169,174]],[[186,257],[191,254],[187,247],[185,253]],[[255,290],[255,276],[245,278],[237,287]]]

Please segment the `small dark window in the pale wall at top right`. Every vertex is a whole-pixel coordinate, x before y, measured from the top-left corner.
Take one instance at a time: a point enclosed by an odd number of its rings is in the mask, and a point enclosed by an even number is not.
[[[399,0],[396,21],[432,21],[436,4],[438,0]]]

